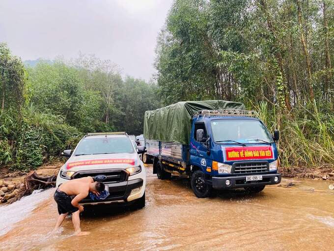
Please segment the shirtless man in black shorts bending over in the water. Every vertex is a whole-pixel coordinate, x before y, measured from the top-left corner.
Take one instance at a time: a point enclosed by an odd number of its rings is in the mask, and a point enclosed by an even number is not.
[[[88,196],[89,192],[99,194],[105,189],[102,182],[94,182],[92,177],[85,177],[75,180],[70,180],[61,184],[54,195],[58,205],[59,217],[53,232],[56,232],[68,214],[72,214],[72,222],[74,225],[75,235],[86,235],[89,232],[82,232],[80,229],[79,214],[83,212],[83,206],[79,202]],[[73,199],[71,196],[75,196]]]

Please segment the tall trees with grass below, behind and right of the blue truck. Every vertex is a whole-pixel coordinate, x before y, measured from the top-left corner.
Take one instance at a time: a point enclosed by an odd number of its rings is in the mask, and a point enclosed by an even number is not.
[[[159,94],[241,101],[281,131],[281,165],[333,166],[333,44],[333,0],[175,0],[158,37]]]

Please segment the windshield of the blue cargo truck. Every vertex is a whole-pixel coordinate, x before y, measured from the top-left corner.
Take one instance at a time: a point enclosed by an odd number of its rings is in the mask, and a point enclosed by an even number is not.
[[[225,144],[273,143],[267,128],[257,120],[213,120],[211,121],[213,140]]]

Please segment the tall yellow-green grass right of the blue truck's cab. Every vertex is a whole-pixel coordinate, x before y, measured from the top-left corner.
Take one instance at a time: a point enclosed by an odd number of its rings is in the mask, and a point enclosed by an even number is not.
[[[334,114],[314,102],[289,114],[269,111],[266,102],[255,105],[259,118],[273,131],[280,130],[278,151],[281,165],[334,166]]]

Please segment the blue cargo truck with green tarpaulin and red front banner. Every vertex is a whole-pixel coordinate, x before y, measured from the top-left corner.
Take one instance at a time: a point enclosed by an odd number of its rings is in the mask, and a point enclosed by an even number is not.
[[[278,130],[272,135],[242,103],[187,101],[146,111],[144,138],[153,173],[190,179],[199,198],[212,188],[260,192],[281,180]]]

